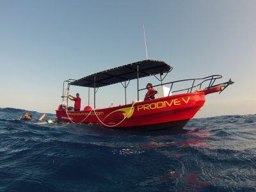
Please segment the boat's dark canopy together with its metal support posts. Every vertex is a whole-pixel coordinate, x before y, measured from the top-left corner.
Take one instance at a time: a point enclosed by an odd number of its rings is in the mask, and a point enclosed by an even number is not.
[[[96,93],[99,87],[107,86],[110,84],[121,83],[125,89],[125,104],[126,103],[126,88],[132,79],[137,79],[137,98],[139,100],[139,79],[141,77],[155,76],[160,74],[159,81],[163,81],[166,75],[172,71],[172,67],[166,64],[164,61],[157,60],[144,60],[136,63],[123,65],[121,67],[111,68],[92,74],[90,76],[83,77],[81,79],[68,79],[63,82],[63,95],[62,103],[65,100],[64,87],[67,83],[67,89],[69,90],[70,85],[88,87],[88,105],[90,103],[90,88],[94,88],[94,108],[96,107]],[[162,78],[163,74],[165,76]],[[128,81],[128,83],[127,83]],[[123,84],[124,83],[124,84]],[[68,105],[68,102],[67,102]]]

